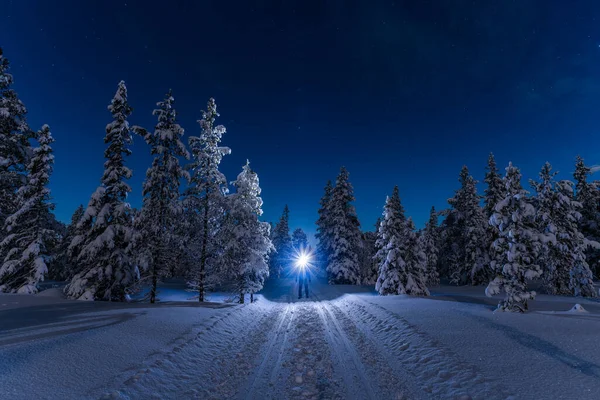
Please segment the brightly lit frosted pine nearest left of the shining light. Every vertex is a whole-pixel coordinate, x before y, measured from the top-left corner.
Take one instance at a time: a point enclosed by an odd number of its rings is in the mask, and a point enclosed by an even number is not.
[[[246,293],[253,300],[254,293],[262,289],[269,276],[267,257],[273,250],[269,238],[270,226],[259,221],[263,201],[260,197],[258,175],[247,162],[237,179],[232,182],[236,193],[229,196],[231,208],[225,229],[232,233],[233,240],[225,243],[225,253],[230,255],[229,268],[233,269],[240,303],[244,303]]]

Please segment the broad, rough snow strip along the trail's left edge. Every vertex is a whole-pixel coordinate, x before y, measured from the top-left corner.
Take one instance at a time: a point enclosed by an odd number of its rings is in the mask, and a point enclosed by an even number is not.
[[[277,326],[281,307],[259,303],[232,308],[213,316],[188,336],[155,354],[120,389],[104,399],[225,399],[239,396],[269,334]]]

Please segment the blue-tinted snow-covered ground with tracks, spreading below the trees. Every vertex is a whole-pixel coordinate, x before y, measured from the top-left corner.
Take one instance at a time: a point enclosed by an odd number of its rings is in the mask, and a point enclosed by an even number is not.
[[[0,295],[0,398],[597,399],[600,303],[483,288],[428,299],[292,281],[253,304]],[[173,285],[163,300],[186,300]],[[225,300],[227,296],[215,296]],[[579,303],[583,310],[573,310]]]

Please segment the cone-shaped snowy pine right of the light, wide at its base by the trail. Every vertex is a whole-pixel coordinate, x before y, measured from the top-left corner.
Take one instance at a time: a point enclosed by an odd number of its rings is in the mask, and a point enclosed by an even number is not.
[[[398,187],[385,203],[377,232],[379,275],[375,289],[381,295],[428,296],[427,258],[419,246],[414,224],[404,216]]]

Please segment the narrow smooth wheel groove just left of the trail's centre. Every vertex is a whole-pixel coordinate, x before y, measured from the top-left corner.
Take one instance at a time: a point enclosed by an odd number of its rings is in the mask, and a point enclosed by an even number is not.
[[[287,305],[279,318],[277,327],[269,335],[266,349],[261,352],[262,360],[256,372],[250,376],[246,386],[240,390],[240,398],[245,400],[264,399],[266,397],[265,388],[274,388],[276,377],[280,372],[281,360],[283,358],[287,336],[290,331],[292,321],[294,320],[294,311],[292,305]],[[270,368],[265,371],[267,365]],[[277,398],[276,396],[272,398]]]

